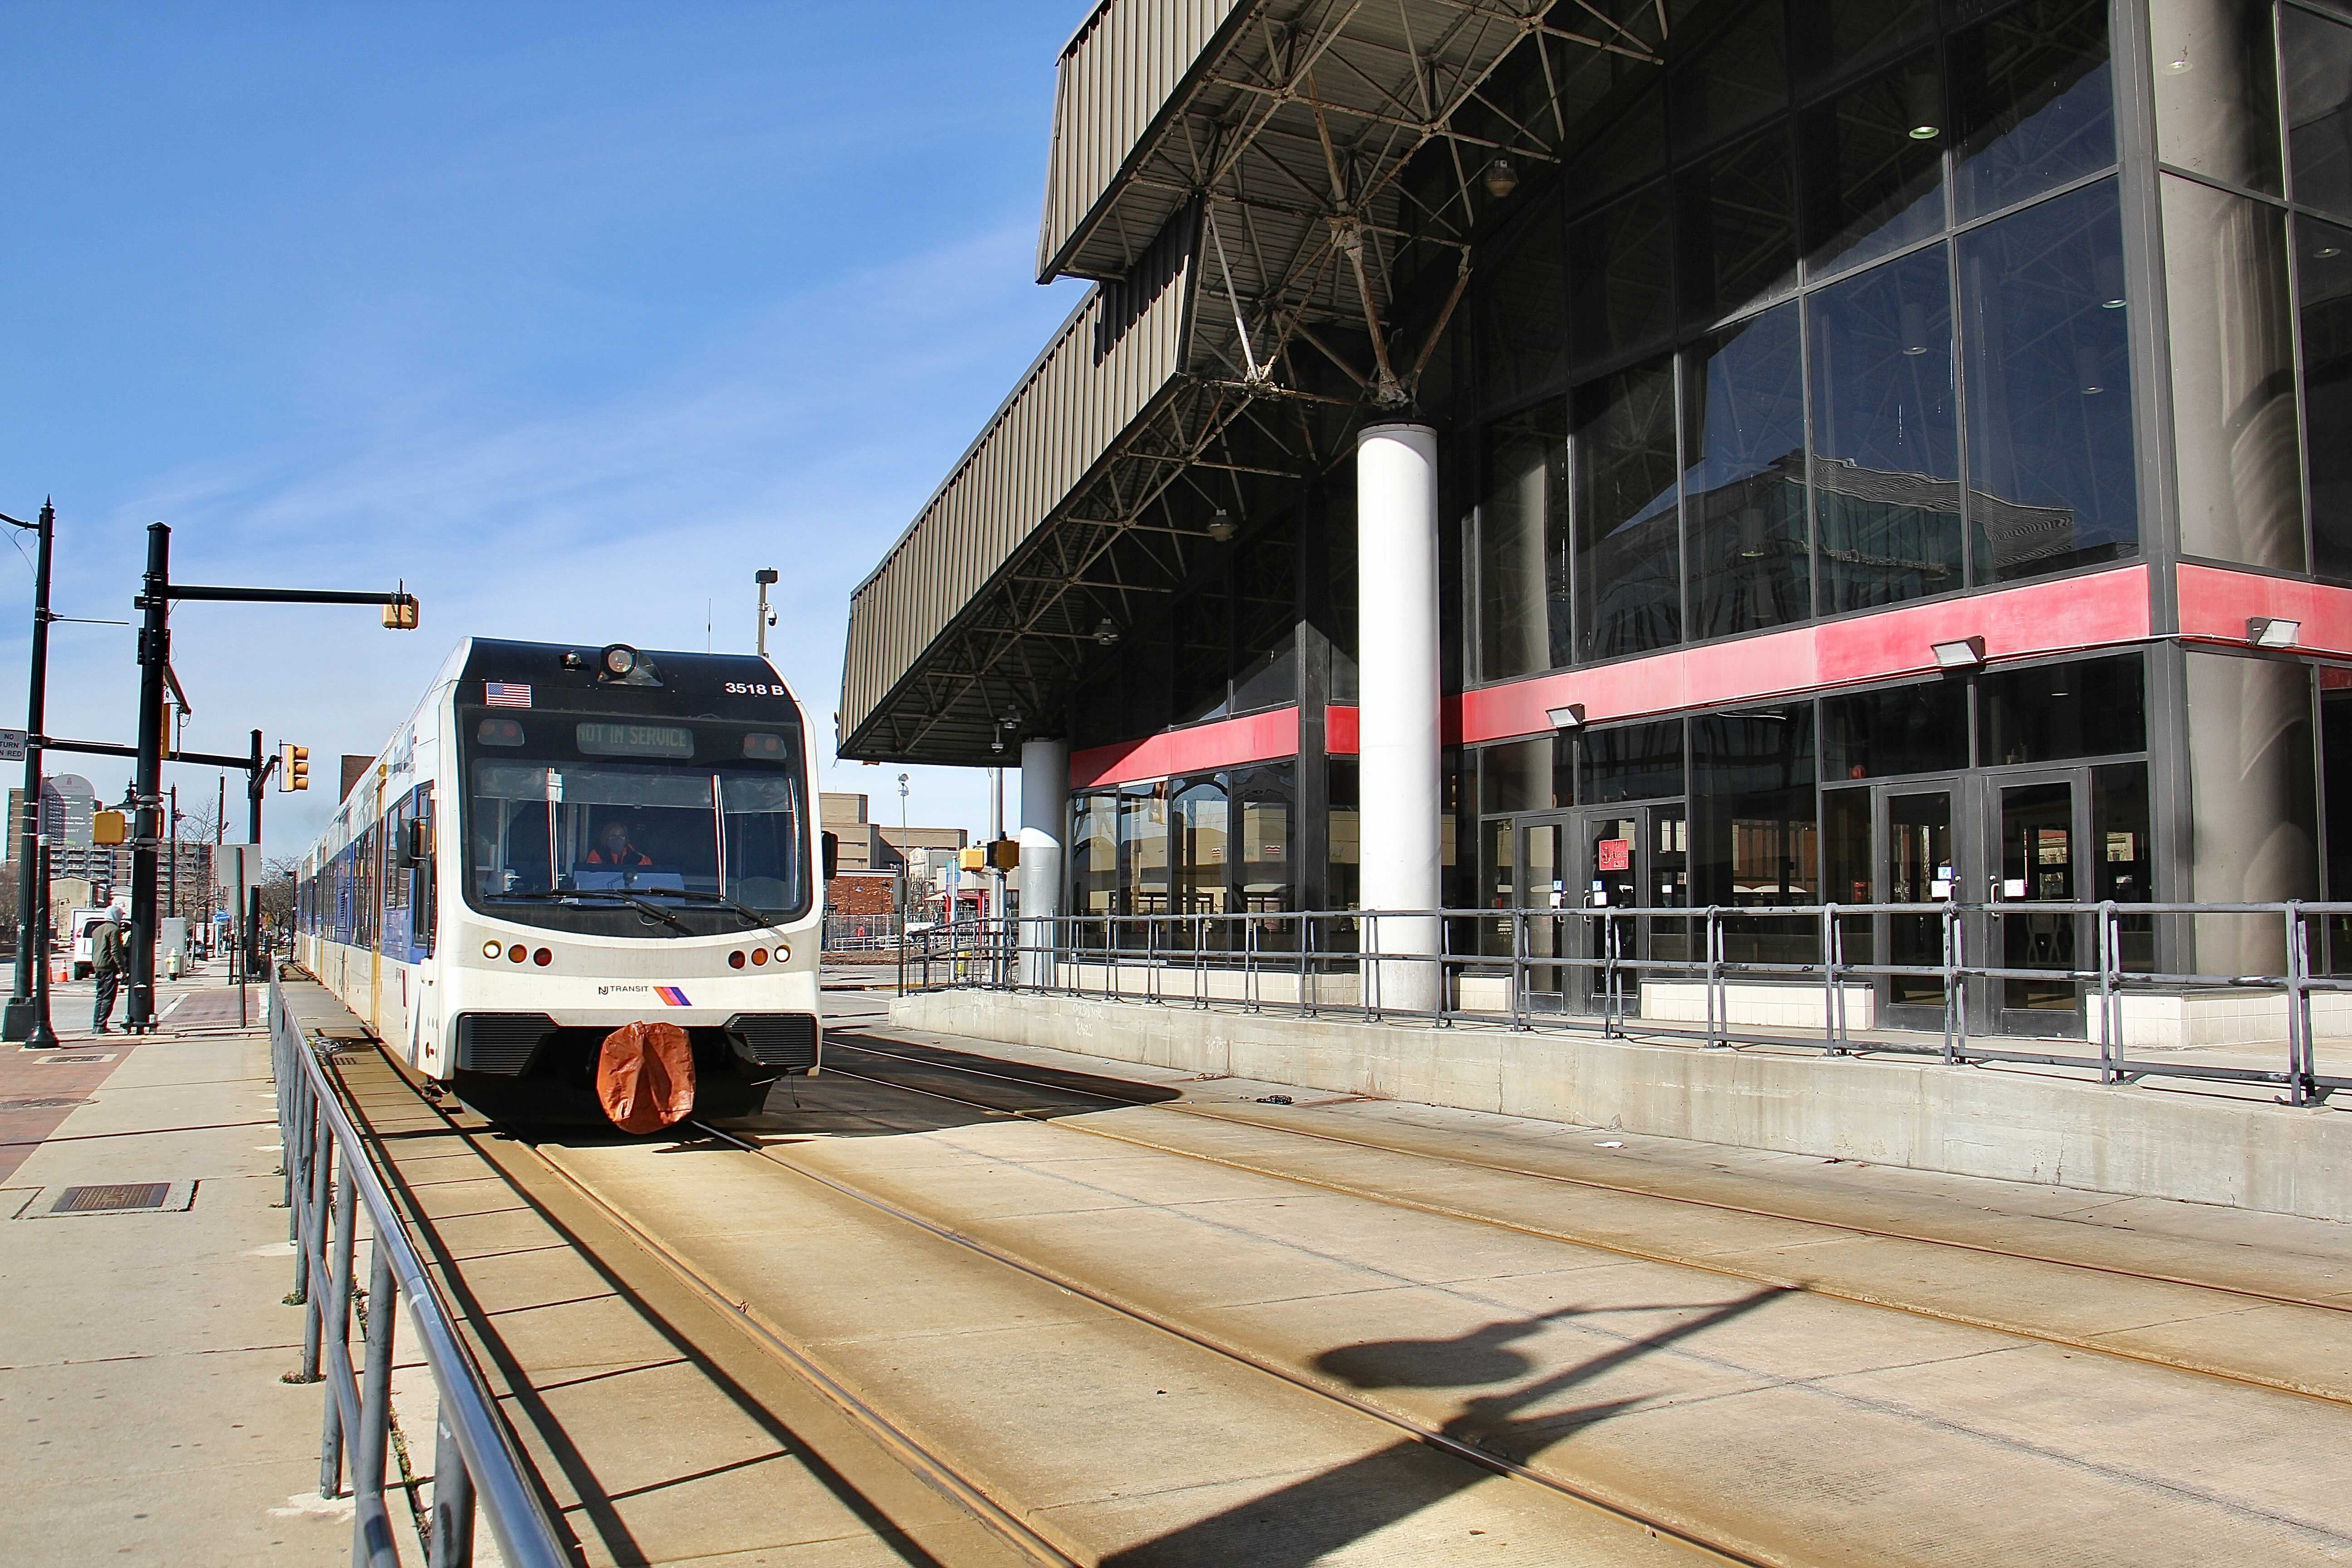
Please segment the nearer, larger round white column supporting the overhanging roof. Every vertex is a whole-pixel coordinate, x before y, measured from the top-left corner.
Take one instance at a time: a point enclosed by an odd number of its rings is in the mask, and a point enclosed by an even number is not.
[[[1435,910],[1444,882],[1437,726],[1437,433],[1371,425],[1355,449],[1364,907]],[[1439,952],[1435,914],[1364,922],[1364,945]],[[1435,964],[1369,964],[1364,999],[1437,1006]]]

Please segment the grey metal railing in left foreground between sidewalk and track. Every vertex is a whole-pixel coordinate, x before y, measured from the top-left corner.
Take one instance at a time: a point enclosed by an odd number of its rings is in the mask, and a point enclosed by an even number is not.
[[[440,1392],[430,1568],[473,1563],[477,1505],[489,1516],[508,1568],[569,1568],[572,1554],[560,1544],[513,1434],[499,1418],[496,1399],[466,1354],[360,1131],[327,1079],[322,1058],[332,1056],[332,1046],[303,1039],[278,980],[270,980],[268,1009],[294,1241],[294,1293],[287,1305],[303,1307],[301,1366],[287,1382],[327,1382],[318,1490],[320,1497],[341,1495],[348,1446],[350,1561],[400,1568],[383,1472],[393,1422],[393,1324],[400,1319],[400,1302],[407,1302]],[[365,1361],[353,1368],[353,1258],[362,1201],[374,1244],[362,1298]]]

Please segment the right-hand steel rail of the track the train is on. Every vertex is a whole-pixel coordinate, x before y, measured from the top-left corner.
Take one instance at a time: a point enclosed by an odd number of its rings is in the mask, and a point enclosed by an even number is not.
[[[1541,1469],[1534,1469],[1531,1465],[1522,1465],[1519,1460],[1512,1460],[1508,1455],[1494,1453],[1489,1448],[1479,1448],[1477,1443],[1463,1441],[1463,1439],[1458,1439],[1458,1436],[1454,1436],[1449,1432],[1430,1427],[1428,1422],[1414,1420],[1411,1415],[1404,1415],[1399,1410],[1390,1410],[1390,1408],[1385,1408],[1381,1403],[1362,1399],[1359,1394],[1350,1394],[1348,1389],[1341,1389],[1341,1387],[1334,1387],[1329,1382],[1319,1382],[1315,1378],[1308,1378],[1305,1373],[1291,1371],[1291,1368],[1282,1366],[1279,1361],[1270,1361],[1265,1356],[1258,1356],[1256,1352],[1249,1352],[1249,1349],[1244,1349],[1240,1345],[1228,1345],[1228,1342],[1218,1340],[1216,1335],[1209,1335],[1209,1333],[1202,1333],[1202,1331],[1190,1328],[1185,1324],[1178,1324],[1176,1319],[1157,1314],[1150,1307],[1141,1307],[1136,1302],[1122,1300],[1122,1298],[1117,1298],[1117,1295],[1112,1295],[1112,1293],[1108,1293],[1108,1291],[1103,1291],[1098,1286],[1087,1284],[1084,1279],[1080,1279],[1075,1274],[1063,1274],[1061,1269],[1051,1269],[1051,1267],[1044,1267],[1044,1265],[1033,1262],[1028,1258],[1021,1258],[1016,1253],[1007,1253],[1007,1251],[1000,1251],[995,1246],[988,1246],[985,1241],[967,1237],[967,1234],[962,1234],[962,1232],[957,1232],[957,1229],[953,1229],[948,1225],[941,1225],[936,1220],[927,1220],[924,1215],[920,1215],[920,1213],[915,1213],[910,1208],[903,1208],[898,1204],[891,1204],[889,1199],[877,1197],[873,1192],[866,1192],[866,1190],[861,1190],[861,1187],[856,1187],[851,1182],[837,1180],[837,1178],[826,1175],[821,1171],[811,1171],[811,1168],[793,1164],[788,1159],[779,1159],[764,1145],[750,1143],[741,1133],[729,1133],[724,1128],[710,1126],[706,1121],[694,1121],[694,1119],[687,1119],[687,1121],[682,1121],[677,1126],[680,1128],[689,1128],[694,1133],[701,1133],[703,1138],[710,1138],[715,1143],[734,1145],[736,1150],[750,1154],[753,1159],[757,1159],[764,1166],[774,1166],[776,1171],[783,1171],[788,1175],[797,1175],[802,1180],[816,1182],[818,1187],[828,1187],[828,1190],[833,1190],[833,1192],[837,1192],[837,1194],[842,1194],[842,1197],[847,1197],[847,1199],[851,1199],[856,1204],[863,1204],[868,1208],[875,1208],[877,1213],[884,1213],[884,1215],[889,1215],[894,1220],[913,1225],[915,1229],[922,1229],[922,1232],[927,1232],[931,1237],[938,1237],[941,1241],[948,1241],[950,1246],[960,1246],[967,1253],[974,1253],[978,1258],[988,1258],[995,1265],[1002,1265],[1007,1269],[1014,1269],[1016,1274],[1025,1274],[1030,1279],[1049,1284],[1056,1291],[1068,1291],[1070,1295],[1084,1298],[1084,1300],[1089,1300],[1089,1302],[1094,1302],[1098,1307],[1108,1307],[1110,1312],[1117,1312],[1120,1316],[1124,1316],[1124,1319],[1129,1319],[1134,1324],[1143,1324],[1145,1328],[1155,1328],[1155,1331],[1160,1331],[1160,1333],[1164,1333],[1164,1335],[1169,1335],[1174,1340],[1183,1340],[1185,1345],[1192,1345],[1197,1349],[1207,1349],[1207,1352],[1211,1352],[1216,1356],[1223,1356],[1223,1359],[1235,1361],[1240,1366],[1247,1366],[1251,1371],[1265,1373],[1268,1378],[1287,1382],[1287,1385],[1291,1385],[1296,1389],[1305,1389],[1308,1394],[1317,1394],[1317,1396],[1322,1396],[1322,1399],[1327,1399],[1327,1401],[1331,1401],[1331,1403],[1336,1403],[1341,1408],[1355,1410],[1357,1415],[1369,1415],[1371,1420],[1376,1420],[1376,1422],[1381,1422],[1385,1427],[1392,1427],[1392,1429],[1406,1434],[1416,1443],[1425,1443],[1428,1448],[1435,1448],[1435,1450],[1446,1453],[1446,1455],[1451,1455],[1456,1460],[1475,1465],[1477,1469],[1484,1469],[1484,1472],[1498,1474],[1498,1476],[1510,1476],[1515,1481],[1526,1481],[1529,1486],[1538,1486],[1538,1488],[1543,1488],[1548,1493],[1569,1497],[1571,1502],[1581,1502],[1581,1505],[1592,1507],[1592,1509],[1597,1509],[1602,1514],[1611,1514],[1611,1516],[1623,1519],[1628,1523],[1642,1526],[1642,1528],[1646,1528],[1646,1530],[1651,1530],[1656,1535],[1665,1535],[1665,1537],[1679,1540],[1686,1547],[1693,1547],[1698,1552],[1715,1554],[1715,1556],[1719,1556],[1724,1561],[1731,1561],[1731,1563],[1743,1563],[1743,1568],[1769,1568],[1771,1559],[1750,1556],[1748,1552],[1740,1552],[1738,1547],[1733,1547],[1729,1542],[1710,1540],[1710,1537],[1691,1530],[1689,1526],[1679,1526],[1679,1523],[1672,1523],[1668,1519],[1656,1519],[1656,1516],[1642,1512],[1630,1500],[1611,1497],[1611,1495],[1606,1495],[1606,1493],[1602,1493],[1597,1488],[1576,1486],[1576,1483],[1564,1481],[1559,1476],[1550,1476],[1550,1474],[1545,1474]]]

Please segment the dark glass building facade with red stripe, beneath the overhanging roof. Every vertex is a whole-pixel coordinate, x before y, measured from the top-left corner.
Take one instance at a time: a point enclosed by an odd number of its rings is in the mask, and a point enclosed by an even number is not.
[[[1705,905],[2352,898],[2352,658],[2256,628],[2352,649],[2352,7],[1597,9],[1658,59],[1522,42],[1465,113],[1557,158],[1489,186],[1468,292],[1397,284],[1435,331],[1446,903],[1651,907],[1675,957],[1663,910]],[[1350,484],[1254,505],[1096,661],[1068,912],[1355,903]],[[2065,971],[2074,936],[1997,940]],[[1846,954],[1931,938],[1856,917]],[[2082,1030],[2063,978],[1983,1006]]]

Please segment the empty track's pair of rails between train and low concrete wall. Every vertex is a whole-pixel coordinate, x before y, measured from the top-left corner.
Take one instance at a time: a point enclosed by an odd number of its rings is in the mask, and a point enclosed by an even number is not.
[[[887,1088],[898,1088],[898,1091],[906,1091],[906,1093],[927,1095],[927,1098],[934,1098],[934,1100],[962,1105],[962,1107],[969,1107],[969,1110],[983,1110],[983,1112],[995,1112],[995,1114],[1007,1114],[1007,1117],[1021,1117],[1021,1119],[1035,1121],[1040,1126],[1054,1126],[1054,1128],[1058,1128],[1063,1133],[1070,1133],[1070,1135],[1084,1135],[1084,1138],[1098,1138],[1098,1140],[1108,1140],[1108,1143],[1122,1143],[1122,1145],[1138,1147],[1138,1150],[1150,1150],[1150,1152],[1157,1152],[1157,1154],[1174,1154],[1174,1157],[1181,1157],[1181,1159],[1192,1159],[1192,1161],[1202,1161],[1202,1164],[1211,1164],[1211,1166],[1223,1166],[1223,1168],[1230,1168],[1230,1171],[1244,1171],[1244,1173],[1251,1173],[1251,1175],[1265,1175],[1265,1178],[1275,1178],[1275,1180],[1284,1180],[1284,1182],[1296,1182],[1296,1185],[1303,1185],[1303,1187],[1315,1187],[1315,1190],[1322,1190],[1322,1192],[1334,1192],[1334,1194],[1341,1194],[1341,1197],[1364,1199],[1364,1201],[1383,1204],[1383,1206],[1392,1206],[1392,1208],[1409,1208],[1409,1211],[1416,1211],[1416,1213],[1430,1213],[1430,1215],[1442,1215],[1442,1218],[1451,1218],[1451,1220],[1468,1220],[1468,1222],[1475,1222],[1475,1225],[1489,1225],[1489,1227],[1496,1227],[1496,1229],[1505,1229],[1505,1232],[1515,1232],[1515,1234],[1524,1234],[1524,1237],[1538,1237],[1538,1239],[1545,1239],[1545,1241],[1564,1241],[1564,1244],[1571,1244],[1571,1246],[1588,1246],[1588,1248],[1606,1251],[1606,1253],[1613,1253],[1613,1255],[1621,1255],[1621,1258],[1632,1258],[1632,1260],[1639,1260],[1639,1262],[1658,1262],[1658,1265],[1670,1265],[1670,1267],[1682,1267],[1682,1269],[1696,1269],[1696,1272],[1703,1272],[1703,1274],[1715,1274],[1715,1276],[1722,1276],[1722,1279],[1736,1279],[1736,1281],[1743,1281],[1743,1284],[1755,1284],[1755,1286],[1766,1286],[1766,1288],[1778,1288],[1778,1291],[1802,1291],[1806,1295],[1825,1295],[1825,1298],[1835,1298],[1835,1300],[1849,1300],[1849,1302],[1856,1302],[1856,1305],[1879,1307],[1879,1309],[1886,1309],[1886,1312],[1905,1312],[1905,1314],[1931,1319],[1931,1321],[1959,1324],[1959,1326],[1966,1326],[1966,1328],[1987,1328],[1987,1331],[1994,1331],[1994,1333],[2009,1333],[2009,1335],[2016,1335],[2016,1338],[2039,1340],[2044,1345],[2060,1345],[2065,1349],[2082,1349],[2082,1352],[2091,1352],[2091,1354],[2100,1354],[2100,1356],[2117,1356],[2117,1359],[2124,1359],[2124,1361],[2140,1361],[2140,1363],[2150,1363],[2150,1366],[2166,1366],[2166,1368],[2183,1371],[2183,1373],[2194,1373],[2194,1375],[2201,1375],[2201,1378],[2220,1378],[2220,1380],[2230,1380],[2230,1382],[2244,1382],[2249,1387],[2260,1387],[2260,1389],[2272,1389],[2272,1392],[2284,1392],[2284,1394],[2298,1394],[2298,1396],[2305,1396],[2305,1399],[2321,1399],[2321,1401],[2328,1401],[2328,1403],[2336,1403],[2336,1406],[2352,1406],[2352,1387],[2343,1387],[2343,1385],[2317,1382],[2317,1380],[2310,1380],[2310,1378],[2296,1378],[2291,1373],[2265,1373],[2265,1371],[2256,1371],[2256,1368],[2246,1368],[2246,1366],[2230,1366],[2230,1363],[2218,1361],[2218,1359],[2204,1359],[2204,1356],[2192,1356],[2192,1354],[2178,1354],[2178,1352],[2166,1354],[2166,1352],[2140,1349],[2140,1347],[2131,1347],[2131,1345],[2117,1345],[2112,1340],[2103,1340],[2103,1338],[2096,1338],[2096,1335],[2067,1333],[2063,1328],[2053,1328],[2051,1324],[2037,1324],[2037,1321],[2032,1321],[2027,1316],[2020,1316],[2020,1314],[1957,1312],[1952,1307],[1936,1307],[1936,1305],[1926,1305],[1926,1302],[1919,1302],[1919,1300],[1905,1300],[1900,1295],[1891,1295],[1891,1293],[1884,1293],[1884,1291],[1863,1291],[1863,1288],[1839,1286],[1835,1281],[1823,1281],[1818,1276],[1799,1276],[1799,1274],[1792,1274],[1792,1272],[1762,1269],[1762,1267],[1738,1265],[1738,1262],[1729,1262],[1724,1258],[1708,1258],[1708,1255],[1698,1255],[1698,1253],[1679,1253],[1679,1251],[1670,1251],[1670,1248],[1637,1246],[1637,1244],[1625,1241],[1623,1237],[1602,1237],[1602,1234],[1592,1234],[1590,1229],[1576,1229],[1573,1225],[1531,1225],[1526,1220],[1512,1220],[1508,1215],[1484,1213],[1484,1211],[1477,1211],[1477,1208],[1465,1208],[1461,1204],[1439,1204],[1439,1201],[1416,1199],[1416,1197],[1399,1194],[1399,1192],[1383,1192],[1381,1187],[1367,1187],[1367,1185],[1355,1185],[1355,1182],[1338,1182],[1338,1180],[1329,1180],[1329,1178],[1322,1178],[1322,1175],[1301,1173],[1296,1168],[1284,1168],[1279,1164],[1263,1164],[1263,1161],[1251,1161],[1251,1159],[1235,1159],[1235,1157],[1228,1157],[1228,1154],[1211,1154],[1211,1152],[1202,1152],[1202,1150],[1188,1150],[1188,1147],[1183,1147],[1178,1143],[1162,1143],[1162,1140],[1155,1140],[1155,1138],[1138,1135],[1134,1131],[1110,1128],[1110,1126],[1101,1126],[1101,1124],[1077,1124],[1077,1121],[1068,1121],[1063,1117],[1049,1114],[1049,1107],[1044,1107],[1044,1105],[1002,1105],[1002,1103],[995,1103],[995,1100],[983,1100],[983,1098],[948,1093],[948,1091],[943,1091],[938,1086],[927,1086],[927,1084],[920,1084],[920,1081],[908,1081],[903,1077],[884,1077],[884,1074],[873,1074],[873,1072],[856,1072],[856,1070],[849,1070],[849,1067],[840,1065],[840,1056],[842,1053],[854,1053],[854,1056],[868,1056],[868,1058],[884,1058],[884,1060],[906,1063],[910,1067],[917,1067],[917,1070],[924,1070],[924,1072],[934,1072],[934,1074],[946,1072],[946,1074],[957,1074],[962,1079],[981,1079],[981,1081],[993,1081],[993,1084],[1007,1084],[1007,1086],[1025,1088],[1025,1091],[1033,1091],[1033,1093],[1040,1093],[1040,1095],[1061,1095],[1065,1100],[1089,1100],[1089,1103],[1098,1103],[1098,1105],[1108,1105],[1108,1107],[1167,1110],[1167,1112],[1176,1112],[1176,1114],[1183,1114],[1183,1117],[1197,1117],[1202,1121],[1214,1121],[1214,1124],[1225,1124],[1225,1126],[1247,1126],[1247,1128],[1279,1133],[1279,1135],[1287,1135],[1287,1138],[1303,1138],[1303,1140],[1312,1140],[1312,1143],[1322,1143],[1322,1145],[1355,1147],[1355,1150],[1367,1150],[1367,1152],[1376,1152],[1376,1154],[1388,1154],[1388,1157],[1399,1157],[1399,1159],[1409,1159],[1409,1161],[1421,1161],[1421,1164],[1428,1164],[1428,1166],[1439,1166],[1439,1164],[1444,1164],[1444,1166],[1465,1166],[1465,1168],[1475,1168],[1475,1171],[1491,1171],[1496,1175],[1512,1175],[1512,1178],[1526,1178],[1526,1180],[1550,1182],[1550,1185],[1557,1185],[1557,1187],[1609,1192],[1609,1194],[1642,1199],[1642,1201],[1675,1204],[1675,1206],[1684,1206],[1684,1208],[1715,1211],[1715,1213],[1724,1213],[1724,1215],[1738,1215],[1738,1218],[1752,1218],[1752,1220],[1769,1220],[1773,1225],[1795,1225],[1795,1227],[1804,1227],[1804,1229],[1809,1229],[1813,1234],[1820,1234],[1820,1237],[1863,1237],[1863,1239],[1872,1239],[1872,1241],[1898,1241],[1898,1244],[1907,1244],[1907,1246],[1926,1246],[1926,1248],[1943,1248],[1943,1251],[1952,1251],[1952,1253],[1971,1253],[1971,1255],[1983,1255],[1983,1258],[2002,1258],[2002,1260],[2020,1262],[2020,1265],[2070,1269],[2070,1272],[2091,1274],[2091,1276],[2129,1279],[2129,1281],[2140,1281],[2140,1284],[2164,1286],[2164,1288],[2176,1288],[2176,1291],[2197,1291],[2197,1293],[2204,1293],[2206,1298],[2211,1298],[2209,1305],[2211,1305],[2213,1312],[2227,1312],[2227,1309],[2232,1309],[2230,1307],[2232,1302],[2234,1305],[2293,1307],[2293,1309],[2321,1312],[2321,1314],[2328,1314],[2331,1321],[2347,1321],[2347,1338],[2352,1338],[2352,1300],[2321,1300],[2321,1298],[2296,1295],[2296,1293],[2253,1291],[2253,1288],[2244,1288],[2244,1286],[2218,1284],[2218,1281],[2211,1281],[2211,1279],[2194,1279],[2194,1276],[2183,1276],[2183,1274],[2164,1274],[2164,1272],[2152,1272],[2152,1269],[2129,1269],[2129,1267],[2117,1267],[2117,1265],[2107,1265],[2107,1262],[2089,1262],[2089,1260],[2079,1260],[2079,1258],[2063,1258],[2063,1255],[2037,1253],[2037,1251],[2025,1251],[2025,1248],[2002,1248],[2002,1246],[1987,1246],[1987,1244],[1980,1244],[1980,1241],[1957,1241],[1957,1239],[1931,1237],[1931,1234],[1919,1234],[1919,1232],[1903,1232],[1903,1229],[1870,1227],[1870,1225],[1851,1225],[1851,1222],[1842,1222],[1842,1220],[1823,1220],[1823,1218],[1813,1218],[1813,1215],[1795,1215],[1795,1213],[1783,1213],[1783,1211],[1771,1211],[1771,1208],[1755,1208],[1755,1206],[1743,1206],[1743,1204],[1726,1204],[1726,1201],[1719,1201],[1719,1199],[1703,1199],[1703,1197],[1677,1194],[1677,1192],[1658,1192],[1656,1187],[1644,1187],[1644,1185],[1632,1185],[1632,1182],[1604,1182],[1604,1180],[1583,1178],[1583,1175],[1564,1175],[1559,1171],[1543,1171],[1543,1168],[1534,1168],[1534,1166],[1505,1164],[1505,1161],[1494,1161],[1494,1159],[1477,1159],[1477,1157],[1468,1157],[1468,1154],[1444,1154],[1444,1157],[1439,1157],[1439,1154],[1430,1154],[1425,1150],[1416,1150],[1416,1147],[1409,1147],[1409,1145],[1383,1143],[1378,1138],[1350,1138],[1350,1135],[1343,1135],[1343,1133],[1336,1133],[1336,1131],[1303,1128],[1303,1126],[1296,1126],[1294,1121],[1270,1121],[1270,1119],[1263,1119],[1263,1117],[1235,1114],[1230,1110],[1216,1110],[1216,1107],[1207,1107],[1207,1105],[1190,1105],[1190,1103],[1181,1103],[1181,1100],[1152,1100],[1152,1098],[1141,1098],[1141,1095],[1105,1093],[1101,1088],[1080,1088],[1075,1084],[1063,1081],[1068,1074],[1054,1074],[1051,1070],[1042,1070],[1042,1072],[1047,1072],[1047,1077],[1028,1077],[1028,1074],[1018,1074],[1018,1072],[995,1072],[995,1070],[988,1070],[988,1067],[976,1067],[976,1065],[971,1065],[967,1060],[955,1060],[955,1058],[950,1058],[946,1053],[929,1053],[929,1051],[924,1051],[924,1053],[917,1056],[917,1053],[908,1053],[908,1051],[887,1051],[887,1048],[880,1048],[880,1046],[873,1046],[873,1044],[842,1039],[840,1032],[828,1034],[828,1039],[826,1039],[826,1053],[828,1053],[828,1063],[826,1063],[826,1074],[828,1077],[849,1077],[849,1079],[858,1079],[858,1081],[868,1081],[868,1084],[877,1084],[877,1086],[887,1086]],[[997,1065],[1002,1067],[1002,1063],[997,1063]]]

